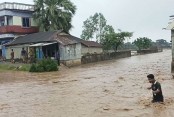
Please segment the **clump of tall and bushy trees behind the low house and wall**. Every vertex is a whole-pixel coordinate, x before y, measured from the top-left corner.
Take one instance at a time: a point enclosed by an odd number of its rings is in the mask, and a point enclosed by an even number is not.
[[[129,39],[133,35],[132,32],[124,32],[121,30],[115,32],[112,26],[107,25],[107,21],[101,13],[95,13],[94,16],[90,16],[83,23],[81,38],[90,40],[94,38],[95,35],[97,42],[103,45],[104,50],[114,49],[117,51],[124,40],[126,38]]]

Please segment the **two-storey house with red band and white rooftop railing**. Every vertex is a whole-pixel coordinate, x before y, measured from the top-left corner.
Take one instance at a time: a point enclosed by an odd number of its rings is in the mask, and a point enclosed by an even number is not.
[[[5,55],[3,44],[14,38],[39,31],[33,21],[34,6],[15,2],[0,4],[0,56]]]

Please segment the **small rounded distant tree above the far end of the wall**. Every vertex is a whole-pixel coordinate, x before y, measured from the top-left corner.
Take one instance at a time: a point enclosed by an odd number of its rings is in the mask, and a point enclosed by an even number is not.
[[[136,45],[139,50],[148,49],[152,45],[152,40],[147,37],[140,37],[137,38],[133,44]]]

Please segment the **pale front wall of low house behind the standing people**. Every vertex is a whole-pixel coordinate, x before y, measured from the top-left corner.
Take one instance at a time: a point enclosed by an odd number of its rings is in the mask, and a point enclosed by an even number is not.
[[[10,53],[11,49],[14,51],[14,58],[19,59],[21,58],[21,50],[24,48],[25,50],[28,50],[28,45],[19,45],[19,46],[10,46],[6,47],[6,59],[10,59]]]

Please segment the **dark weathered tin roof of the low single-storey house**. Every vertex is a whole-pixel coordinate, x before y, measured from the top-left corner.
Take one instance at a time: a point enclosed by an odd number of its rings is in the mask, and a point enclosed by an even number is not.
[[[42,43],[42,42],[55,42],[55,41],[62,45],[82,43],[83,45],[87,47],[101,47],[101,45],[97,42],[82,40],[78,37],[67,34],[63,32],[62,30],[52,31],[52,32],[38,32],[38,33],[21,36],[16,38],[11,43],[8,43],[7,46],[31,44],[31,43],[34,44],[34,43]]]

